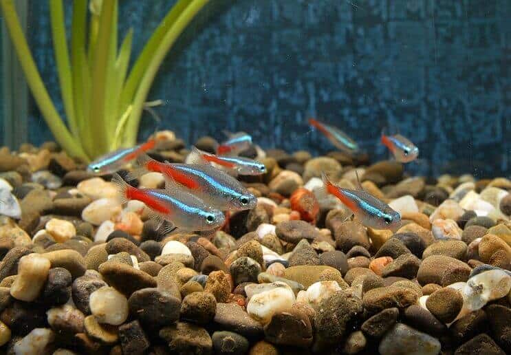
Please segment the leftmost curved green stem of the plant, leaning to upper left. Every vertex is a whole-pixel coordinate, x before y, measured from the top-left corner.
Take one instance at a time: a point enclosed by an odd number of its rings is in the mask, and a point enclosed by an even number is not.
[[[3,17],[21,67],[23,68],[23,72],[25,72],[30,91],[48,127],[50,127],[54,138],[70,155],[86,162],[89,161],[89,157],[87,157],[79,142],[71,136],[67,127],[65,127],[62,118],[58,115],[52,103],[50,95],[48,95],[46,91],[43,80],[41,80],[41,76],[34,63],[34,58],[32,58],[32,54],[28,48],[23,30],[21,30],[21,26],[19,25],[18,15],[16,10],[14,10],[12,0],[0,0],[0,8],[3,12]]]

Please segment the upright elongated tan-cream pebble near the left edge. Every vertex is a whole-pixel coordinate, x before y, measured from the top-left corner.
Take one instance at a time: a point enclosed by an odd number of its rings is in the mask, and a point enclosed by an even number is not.
[[[25,302],[34,301],[41,293],[50,266],[50,260],[39,254],[21,257],[18,262],[18,276],[10,287],[11,296]]]

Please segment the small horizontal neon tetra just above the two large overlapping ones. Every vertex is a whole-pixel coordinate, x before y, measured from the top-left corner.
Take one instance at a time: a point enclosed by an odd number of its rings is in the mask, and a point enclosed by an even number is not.
[[[186,158],[188,164],[213,164],[230,173],[239,175],[261,175],[266,173],[266,166],[256,160],[238,157],[235,155],[215,155],[192,147]]]

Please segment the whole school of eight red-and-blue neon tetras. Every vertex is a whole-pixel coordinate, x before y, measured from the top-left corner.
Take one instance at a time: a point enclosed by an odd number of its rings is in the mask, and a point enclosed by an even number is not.
[[[349,154],[360,151],[358,144],[337,127],[314,118],[309,119],[309,125],[323,133],[341,151]],[[212,233],[226,224],[230,213],[250,210],[257,205],[257,197],[237,180],[237,175],[266,173],[261,162],[239,156],[253,144],[248,133],[224,133],[227,138],[217,144],[215,153],[191,147],[191,153],[183,164],[160,162],[147,155],[157,144],[151,138],[136,147],[119,149],[98,158],[89,164],[87,171],[95,175],[113,174],[111,181],[118,187],[120,200],[143,202],[159,228],[166,223],[166,232],[177,228],[180,231]],[[386,136],[382,133],[380,141],[398,162],[417,159],[419,149],[400,134]],[[116,171],[132,162],[135,166],[125,176],[126,180],[134,180],[145,173],[161,173],[165,180],[164,189],[138,189],[123,180]],[[356,190],[337,186],[325,173],[322,173],[322,179],[325,192],[337,197],[365,226],[393,231],[400,227],[400,214],[364,191],[358,175]]]

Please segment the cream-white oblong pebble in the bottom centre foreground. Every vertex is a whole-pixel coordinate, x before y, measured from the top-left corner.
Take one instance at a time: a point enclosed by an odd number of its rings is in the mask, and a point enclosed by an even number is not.
[[[274,288],[254,296],[248,301],[247,312],[263,324],[269,323],[273,314],[289,309],[295,301],[294,292],[288,288]]]

